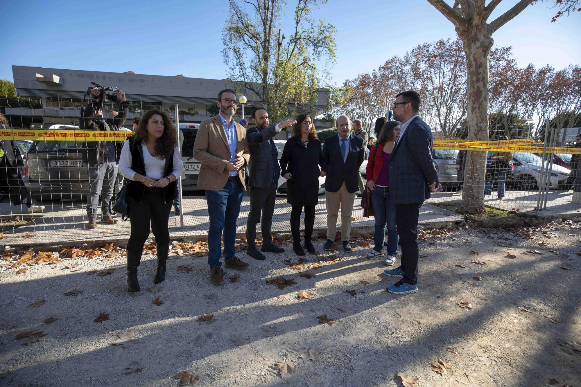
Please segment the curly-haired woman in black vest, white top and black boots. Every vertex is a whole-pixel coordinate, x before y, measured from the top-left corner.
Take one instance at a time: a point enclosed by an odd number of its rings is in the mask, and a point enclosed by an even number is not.
[[[121,149],[119,173],[129,180],[127,186],[131,236],[127,243],[127,287],[139,291],[137,267],[149,224],[155,235],[157,273],[154,282],[166,279],[166,260],[170,244],[167,224],[171,206],[178,195],[176,180],[184,171],[173,120],[166,112],[149,110],[135,134]]]

